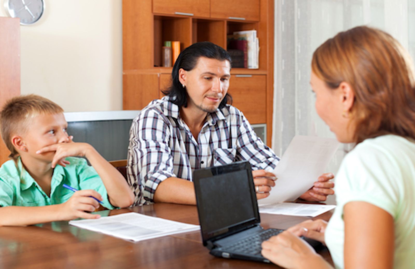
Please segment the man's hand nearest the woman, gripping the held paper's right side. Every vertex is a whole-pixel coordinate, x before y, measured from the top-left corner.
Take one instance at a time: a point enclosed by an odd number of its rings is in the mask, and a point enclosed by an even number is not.
[[[318,177],[314,186],[300,196],[301,199],[312,202],[326,201],[327,196],[334,194],[334,182],[329,181],[334,178],[334,174],[325,173]]]

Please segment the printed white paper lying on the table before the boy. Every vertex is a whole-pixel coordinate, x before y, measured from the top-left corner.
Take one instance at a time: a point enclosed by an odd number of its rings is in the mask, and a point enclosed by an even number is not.
[[[69,221],[69,224],[133,241],[200,230],[199,225],[169,221],[134,212],[93,220]]]

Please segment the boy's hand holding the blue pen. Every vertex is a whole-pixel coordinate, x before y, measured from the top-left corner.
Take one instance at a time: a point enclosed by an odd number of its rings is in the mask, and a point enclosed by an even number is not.
[[[102,201],[101,195],[92,189],[75,191],[68,201],[61,204],[59,219],[70,221],[74,218],[99,218],[100,215],[87,213],[94,212],[100,206],[93,197]]]

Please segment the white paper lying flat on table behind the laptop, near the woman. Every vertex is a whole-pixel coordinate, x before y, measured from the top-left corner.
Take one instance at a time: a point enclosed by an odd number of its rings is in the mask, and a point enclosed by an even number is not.
[[[315,217],[329,210],[332,210],[335,207],[336,206],[334,205],[322,204],[280,203],[261,206],[259,208],[259,213]]]

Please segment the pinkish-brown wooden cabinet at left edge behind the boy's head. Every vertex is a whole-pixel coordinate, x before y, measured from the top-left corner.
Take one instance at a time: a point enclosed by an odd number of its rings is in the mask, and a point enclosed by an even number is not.
[[[20,95],[20,20],[0,17],[0,107],[7,99]],[[10,151],[0,138],[0,165]]]

